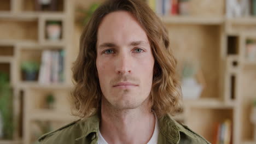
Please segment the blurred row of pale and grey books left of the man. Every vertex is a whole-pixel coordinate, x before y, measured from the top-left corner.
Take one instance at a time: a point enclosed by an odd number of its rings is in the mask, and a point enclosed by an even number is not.
[[[39,70],[39,83],[61,83],[64,80],[64,55],[63,50],[44,50],[42,53],[41,65]]]

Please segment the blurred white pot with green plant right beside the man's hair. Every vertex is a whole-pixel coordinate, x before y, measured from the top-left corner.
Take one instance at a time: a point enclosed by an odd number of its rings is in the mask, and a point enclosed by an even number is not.
[[[198,99],[205,87],[202,71],[191,62],[185,62],[182,71],[182,95],[184,99]]]

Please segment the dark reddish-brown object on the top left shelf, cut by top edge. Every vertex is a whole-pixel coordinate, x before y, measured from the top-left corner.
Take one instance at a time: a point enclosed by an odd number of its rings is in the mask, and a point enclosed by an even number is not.
[[[38,11],[56,11],[57,0],[35,0],[36,10]]]

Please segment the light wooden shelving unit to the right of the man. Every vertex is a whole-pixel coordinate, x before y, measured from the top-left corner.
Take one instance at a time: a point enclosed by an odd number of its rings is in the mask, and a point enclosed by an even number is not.
[[[249,121],[255,95],[256,62],[246,58],[246,39],[256,39],[256,18],[228,19],[225,1],[191,0],[189,16],[160,16],[165,23],[178,67],[186,58],[199,61],[206,88],[199,99],[183,102],[174,117],[214,141],[215,127],[232,123],[232,143],[256,143]]]

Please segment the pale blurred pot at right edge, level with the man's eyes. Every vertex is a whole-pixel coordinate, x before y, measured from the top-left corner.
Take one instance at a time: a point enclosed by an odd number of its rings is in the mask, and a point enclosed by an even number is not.
[[[256,62],[256,41],[252,39],[246,40],[246,56],[248,61]]]

